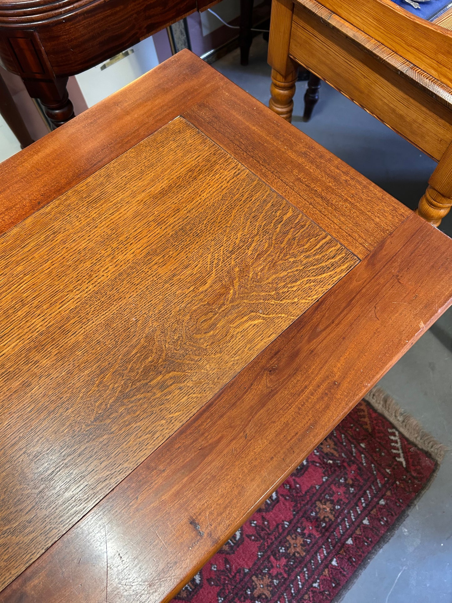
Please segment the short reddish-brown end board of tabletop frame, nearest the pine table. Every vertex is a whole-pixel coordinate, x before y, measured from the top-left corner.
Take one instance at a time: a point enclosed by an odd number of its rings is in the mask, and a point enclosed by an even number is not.
[[[250,101],[228,86],[183,115],[360,259],[410,215],[306,134]]]

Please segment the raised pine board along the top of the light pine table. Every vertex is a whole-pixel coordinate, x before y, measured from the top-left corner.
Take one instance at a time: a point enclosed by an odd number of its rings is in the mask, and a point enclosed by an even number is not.
[[[413,65],[452,86],[451,31],[409,13],[391,0],[367,0],[365,3],[322,0],[322,4]]]

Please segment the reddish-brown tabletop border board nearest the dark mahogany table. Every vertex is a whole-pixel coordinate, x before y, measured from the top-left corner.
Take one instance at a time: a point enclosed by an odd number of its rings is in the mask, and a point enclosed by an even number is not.
[[[196,81],[196,86],[193,86]],[[189,51],[152,69],[1,163],[0,233],[227,83]],[[27,182],[27,186],[24,186]]]

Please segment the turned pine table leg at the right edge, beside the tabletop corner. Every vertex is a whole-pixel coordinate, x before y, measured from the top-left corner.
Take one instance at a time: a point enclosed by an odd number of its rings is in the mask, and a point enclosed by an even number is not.
[[[428,180],[427,191],[419,201],[418,213],[421,218],[439,226],[442,218],[452,207],[452,143],[439,160],[435,171]]]

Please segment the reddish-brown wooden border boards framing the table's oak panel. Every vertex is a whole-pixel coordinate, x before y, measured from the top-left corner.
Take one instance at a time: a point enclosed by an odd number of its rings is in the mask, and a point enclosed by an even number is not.
[[[0,602],[171,598],[450,303],[450,239],[188,51],[4,162],[3,231],[177,115],[365,259]]]

